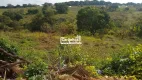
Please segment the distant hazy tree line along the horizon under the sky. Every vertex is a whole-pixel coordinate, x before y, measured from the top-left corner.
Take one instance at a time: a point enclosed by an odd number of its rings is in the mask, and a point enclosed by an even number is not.
[[[92,1],[69,1],[69,2],[63,2],[68,6],[83,6],[83,5],[105,5],[105,6],[111,6],[111,5],[126,5],[126,6],[142,6],[142,3],[133,3],[133,2],[128,2],[128,3],[112,3],[112,2],[108,2],[108,1],[97,1],[97,0],[92,0]],[[48,4],[48,5],[57,5],[58,3],[52,4],[52,3],[47,3],[45,2],[44,4]],[[25,7],[36,7],[36,6],[40,6],[37,4],[23,4],[23,5],[12,5],[12,4],[7,4],[7,6],[0,6],[0,8],[25,8]]]

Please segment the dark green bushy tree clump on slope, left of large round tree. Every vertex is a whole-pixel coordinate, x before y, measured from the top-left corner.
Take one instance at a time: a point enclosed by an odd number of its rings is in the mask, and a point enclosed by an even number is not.
[[[51,32],[51,26],[54,24],[52,11],[47,12],[47,15],[37,14],[29,25],[31,31]]]

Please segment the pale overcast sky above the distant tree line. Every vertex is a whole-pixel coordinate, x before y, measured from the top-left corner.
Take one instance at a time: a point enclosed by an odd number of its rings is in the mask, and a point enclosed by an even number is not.
[[[43,4],[45,2],[56,3],[56,2],[66,2],[66,1],[84,1],[84,0],[0,0],[0,6],[5,6],[7,4]],[[127,2],[135,2],[142,3],[142,0],[104,0],[110,2],[119,2],[119,3],[127,3]]]

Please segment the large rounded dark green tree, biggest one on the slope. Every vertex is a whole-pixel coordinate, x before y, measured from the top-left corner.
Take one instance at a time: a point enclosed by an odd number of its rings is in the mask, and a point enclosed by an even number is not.
[[[97,30],[107,27],[110,16],[97,8],[86,7],[77,14],[78,31],[90,31],[94,34]]]

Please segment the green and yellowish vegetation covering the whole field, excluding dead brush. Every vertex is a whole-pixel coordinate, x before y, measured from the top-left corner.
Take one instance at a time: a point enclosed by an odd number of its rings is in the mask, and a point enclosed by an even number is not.
[[[24,4],[21,8],[9,5],[11,10],[0,9],[0,48],[32,62],[20,65],[25,70],[22,76],[28,79],[49,77],[51,67],[58,70],[65,65],[84,66],[92,77],[141,79],[142,12],[137,10],[140,7],[94,6],[106,4],[96,0],[91,3],[45,3],[42,7]],[[76,35],[82,36],[81,45],[59,43],[61,36]],[[0,53],[1,59],[8,60]]]

